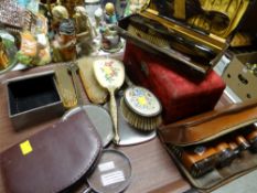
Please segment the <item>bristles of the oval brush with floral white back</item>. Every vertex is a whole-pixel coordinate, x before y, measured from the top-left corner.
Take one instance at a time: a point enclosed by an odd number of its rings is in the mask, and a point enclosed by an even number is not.
[[[124,97],[120,99],[120,108],[125,119],[139,130],[154,130],[162,124],[161,115],[154,117],[143,117],[130,110],[126,105]]]

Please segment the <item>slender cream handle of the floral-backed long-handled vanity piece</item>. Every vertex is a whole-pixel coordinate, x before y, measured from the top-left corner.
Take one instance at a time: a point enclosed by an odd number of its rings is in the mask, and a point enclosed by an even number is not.
[[[110,116],[114,122],[114,143],[118,144],[119,143],[119,131],[118,131],[118,119],[117,119],[117,105],[116,105],[116,99],[115,99],[115,89],[109,88],[110,93]]]

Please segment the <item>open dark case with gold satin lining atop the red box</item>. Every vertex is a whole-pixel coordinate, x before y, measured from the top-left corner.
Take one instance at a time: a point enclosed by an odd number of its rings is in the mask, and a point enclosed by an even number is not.
[[[250,0],[149,0],[118,22],[127,41],[164,57],[171,65],[204,76],[229,46],[255,3]],[[192,73],[193,72],[193,73]]]

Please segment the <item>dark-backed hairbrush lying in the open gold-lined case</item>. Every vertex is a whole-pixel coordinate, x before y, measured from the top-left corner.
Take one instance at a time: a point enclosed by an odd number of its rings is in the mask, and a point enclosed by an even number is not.
[[[204,44],[192,41],[150,19],[142,21],[138,17],[130,19],[128,33],[172,53],[180,53],[184,58],[214,58],[215,51]],[[189,58],[188,58],[189,61]]]

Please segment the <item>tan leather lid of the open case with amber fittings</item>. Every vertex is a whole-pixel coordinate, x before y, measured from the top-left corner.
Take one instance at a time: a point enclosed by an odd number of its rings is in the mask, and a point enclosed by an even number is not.
[[[255,99],[163,126],[159,133],[163,142],[175,146],[196,144],[254,124],[257,120],[256,115]]]

